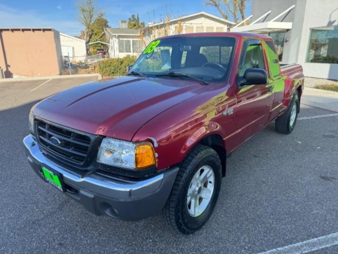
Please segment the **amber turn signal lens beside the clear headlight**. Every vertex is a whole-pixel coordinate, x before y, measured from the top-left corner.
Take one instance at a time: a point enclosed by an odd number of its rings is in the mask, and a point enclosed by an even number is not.
[[[142,142],[136,146],[136,168],[143,169],[156,165],[155,151],[151,143]]]

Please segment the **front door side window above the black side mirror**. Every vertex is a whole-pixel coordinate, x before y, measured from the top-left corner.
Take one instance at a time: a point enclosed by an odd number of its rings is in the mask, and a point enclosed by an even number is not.
[[[246,48],[243,64],[239,69],[239,76],[243,76],[248,68],[259,68],[265,70],[262,45],[249,45]]]

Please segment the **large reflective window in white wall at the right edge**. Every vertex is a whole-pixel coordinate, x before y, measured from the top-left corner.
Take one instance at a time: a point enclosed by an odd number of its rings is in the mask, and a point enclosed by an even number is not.
[[[338,64],[338,26],[311,29],[306,61]]]

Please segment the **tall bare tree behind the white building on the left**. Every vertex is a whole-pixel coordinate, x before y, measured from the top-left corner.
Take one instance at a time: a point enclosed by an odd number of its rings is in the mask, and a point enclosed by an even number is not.
[[[94,5],[93,0],[78,0],[76,8],[79,11],[78,20],[84,25],[83,39],[86,41],[86,54],[89,55],[89,47],[87,44],[93,36],[91,26],[97,18],[102,18],[104,16],[104,12]]]

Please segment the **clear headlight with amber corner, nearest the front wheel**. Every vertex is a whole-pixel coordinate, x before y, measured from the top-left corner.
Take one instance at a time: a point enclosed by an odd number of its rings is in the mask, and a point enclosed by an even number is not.
[[[150,142],[128,142],[106,137],[102,140],[97,162],[129,169],[156,165],[155,151]]]

